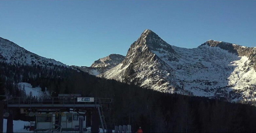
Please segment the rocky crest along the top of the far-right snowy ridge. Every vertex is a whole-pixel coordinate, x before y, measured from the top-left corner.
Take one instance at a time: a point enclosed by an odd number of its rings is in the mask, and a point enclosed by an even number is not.
[[[234,53],[238,56],[246,56],[249,58],[250,62],[248,65],[251,65],[254,67],[254,70],[256,71],[256,47],[250,48],[245,46],[240,46],[228,42],[222,42],[222,41],[213,41],[209,40],[202,45],[208,45],[210,47],[220,47],[223,50],[227,50],[230,53]]]

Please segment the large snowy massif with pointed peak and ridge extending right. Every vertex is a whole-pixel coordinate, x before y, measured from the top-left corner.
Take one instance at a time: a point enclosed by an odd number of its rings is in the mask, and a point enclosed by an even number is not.
[[[213,40],[179,48],[145,30],[104,77],[166,93],[248,100],[256,95],[255,54],[255,47]]]

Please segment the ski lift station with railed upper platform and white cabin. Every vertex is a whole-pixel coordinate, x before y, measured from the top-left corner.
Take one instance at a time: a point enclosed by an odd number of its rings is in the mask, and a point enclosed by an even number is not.
[[[58,97],[7,97],[0,104],[0,113],[8,112],[7,131],[13,132],[13,112],[20,110],[35,117],[34,132],[112,132],[108,130],[102,104],[110,98],[81,97],[80,94],[60,94]],[[7,113],[5,113],[7,114]],[[3,117],[0,117],[3,120]],[[0,121],[2,121],[0,120]],[[90,127],[90,131],[88,128]],[[0,125],[3,129],[3,124]]]

